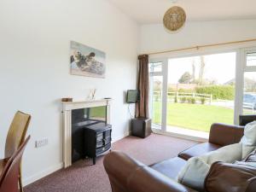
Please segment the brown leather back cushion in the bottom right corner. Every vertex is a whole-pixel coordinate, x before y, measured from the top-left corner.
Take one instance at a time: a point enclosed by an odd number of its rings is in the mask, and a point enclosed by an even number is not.
[[[256,168],[247,165],[216,162],[205,181],[207,192],[254,192]]]

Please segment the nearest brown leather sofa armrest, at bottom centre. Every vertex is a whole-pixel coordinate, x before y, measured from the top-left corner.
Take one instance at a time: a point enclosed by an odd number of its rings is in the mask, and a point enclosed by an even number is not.
[[[113,192],[189,192],[190,190],[128,155],[113,151],[104,158]],[[192,191],[192,190],[191,190]]]

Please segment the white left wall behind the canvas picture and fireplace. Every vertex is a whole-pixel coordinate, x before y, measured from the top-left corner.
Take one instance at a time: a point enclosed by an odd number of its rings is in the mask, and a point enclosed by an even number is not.
[[[0,2],[0,157],[17,110],[32,114],[23,160],[30,183],[61,167],[61,97],[112,97],[113,139],[128,132],[124,91],[136,88],[138,26],[105,0]],[[69,74],[70,40],[107,53],[106,79]],[[34,148],[47,137],[49,145]]]

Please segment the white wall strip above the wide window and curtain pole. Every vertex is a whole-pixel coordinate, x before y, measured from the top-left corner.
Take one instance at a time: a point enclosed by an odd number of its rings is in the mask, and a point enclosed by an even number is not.
[[[140,53],[248,38],[256,38],[256,20],[188,21],[178,32],[167,32],[162,24],[143,25],[140,32]]]

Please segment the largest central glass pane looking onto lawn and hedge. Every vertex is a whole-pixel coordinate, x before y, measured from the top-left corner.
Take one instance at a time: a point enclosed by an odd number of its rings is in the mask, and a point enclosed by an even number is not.
[[[235,77],[236,52],[170,59],[166,131],[209,132],[212,123],[233,124]]]

